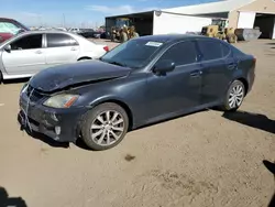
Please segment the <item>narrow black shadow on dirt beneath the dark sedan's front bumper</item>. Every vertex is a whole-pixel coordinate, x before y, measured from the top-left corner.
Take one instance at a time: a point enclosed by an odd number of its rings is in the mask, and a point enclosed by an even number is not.
[[[25,131],[30,137],[32,137],[35,140],[40,140],[40,141],[42,141],[42,142],[44,142],[47,145],[53,146],[53,148],[64,148],[64,149],[69,148],[68,142],[57,142],[57,141],[53,140],[52,138],[48,138],[45,134],[32,131],[32,130],[30,130],[30,128],[24,127],[24,124],[21,123],[20,115],[18,115],[18,122],[20,124],[20,130]]]

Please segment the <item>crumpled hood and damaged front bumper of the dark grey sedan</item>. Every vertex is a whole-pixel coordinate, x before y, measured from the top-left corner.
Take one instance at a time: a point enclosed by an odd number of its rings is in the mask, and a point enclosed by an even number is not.
[[[67,72],[70,73],[67,73]],[[54,109],[43,106],[50,97],[61,94],[81,94],[84,88],[95,88],[97,84],[125,77],[130,68],[110,65],[99,61],[81,62],[48,68],[34,76],[20,98],[21,123],[31,131],[44,133],[56,141],[75,142],[77,129],[82,116],[92,107],[90,101],[66,109]],[[54,79],[53,79],[54,77]],[[45,81],[47,79],[47,81]],[[28,115],[28,116],[26,116]],[[43,120],[37,124],[36,120]],[[56,134],[55,127],[65,129]],[[74,126],[68,129],[67,126]]]

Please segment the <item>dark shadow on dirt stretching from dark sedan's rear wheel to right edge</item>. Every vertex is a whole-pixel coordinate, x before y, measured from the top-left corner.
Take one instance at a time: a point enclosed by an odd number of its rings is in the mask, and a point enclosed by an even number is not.
[[[270,133],[275,133],[275,121],[264,115],[251,113],[245,111],[224,112],[223,118],[235,121],[255,129]]]

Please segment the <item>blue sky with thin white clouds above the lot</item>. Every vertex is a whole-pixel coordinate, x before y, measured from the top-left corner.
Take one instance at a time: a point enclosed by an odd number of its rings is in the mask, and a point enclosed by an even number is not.
[[[0,17],[31,25],[95,26],[105,17],[217,0],[0,0]]]

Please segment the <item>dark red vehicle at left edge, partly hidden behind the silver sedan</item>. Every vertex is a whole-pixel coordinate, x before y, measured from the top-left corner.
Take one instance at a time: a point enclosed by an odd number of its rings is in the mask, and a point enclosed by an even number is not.
[[[18,33],[30,31],[22,23],[7,18],[0,18],[0,43],[4,42]]]

